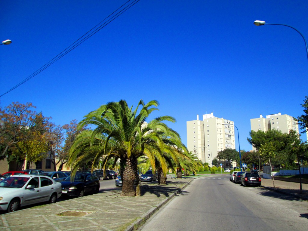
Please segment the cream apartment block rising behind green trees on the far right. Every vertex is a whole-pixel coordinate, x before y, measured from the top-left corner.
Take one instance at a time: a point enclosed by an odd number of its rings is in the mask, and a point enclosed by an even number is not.
[[[260,115],[259,118],[250,119],[250,127],[252,131],[263,131],[266,132],[268,130],[276,129],[281,131],[282,133],[289,133],[290,130],[298,131],[298,124],[294,120],[294,117],[290,115],[281,115],[281,113],[266,115],[266,118]],[[253,150],[256,148],[252,147]]]

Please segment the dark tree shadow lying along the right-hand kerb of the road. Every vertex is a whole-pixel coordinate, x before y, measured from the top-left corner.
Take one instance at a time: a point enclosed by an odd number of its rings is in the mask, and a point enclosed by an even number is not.
[[[278,191],[279,189],[279,191]],[[302,201],[302,198],[308,195],[308,190],[302,190],[303,193],[299,194],[298,189],[281,189],[281,188],[260,188],[260,195],[265,197],[275,197],[288,201]]]

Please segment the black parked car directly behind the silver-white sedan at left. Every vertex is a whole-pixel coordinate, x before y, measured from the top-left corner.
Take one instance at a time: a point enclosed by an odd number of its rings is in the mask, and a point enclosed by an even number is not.
[[[61,184],[63,196],[83,197],[87,193],[99,192],[99,179],[91,173],[78,173],[74,181],[68,176]]]

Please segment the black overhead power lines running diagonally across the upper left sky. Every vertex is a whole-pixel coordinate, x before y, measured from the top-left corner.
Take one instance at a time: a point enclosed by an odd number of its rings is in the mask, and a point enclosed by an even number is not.
[[[43,67],[39,68],[37,71],[33,72],[31,75],[29,75],[26,79],[22,80],[20,83],[12,87],[10,90],[6,91],[0,97],[3,95],[6,95],[10,91],[13,91],[20,85],[26,83],[28,80],[32,79],[34,76],[38,75],[42,71],[44,71],[47,67],[49,67],[51,64],[55,63],[59,59],[61,59],[64,55],[78,47],[81,43],[89,39],[91,36],[96,34],[99,30],[103,29],[105,26],[107,26],[110,22],[118,18],[121,14],[123,14],[126,10],[134,6],[137,2],[140,0],[133,0],[131,3],[129,3],[132,0],[128,0],[125,2],[122,6],[120,6],[118,9],[113,11],[111,14],[109,14],[106,18],[104,18],[101,22],[99,22],[96,26],[94,26],[91,30],[89,30],[87,33],[85,33],[83,36],[81,36],[79,39],[77,39],[74,43],[72,43],[70,46],[68,46],[65,50],[63,50],[59,55],[56,55],[53,59],[51,59],[48,63],[46,63]],[[129,4],[128,4],[129,3]]]

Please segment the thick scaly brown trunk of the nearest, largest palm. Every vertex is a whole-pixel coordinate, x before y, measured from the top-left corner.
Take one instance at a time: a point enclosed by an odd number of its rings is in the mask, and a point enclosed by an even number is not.
[[[122,177],[122,193],[123,197],[135,197],[139,194],[139,176],[137,174],[137,159],[131,155],[126,159],[125,168]]]

